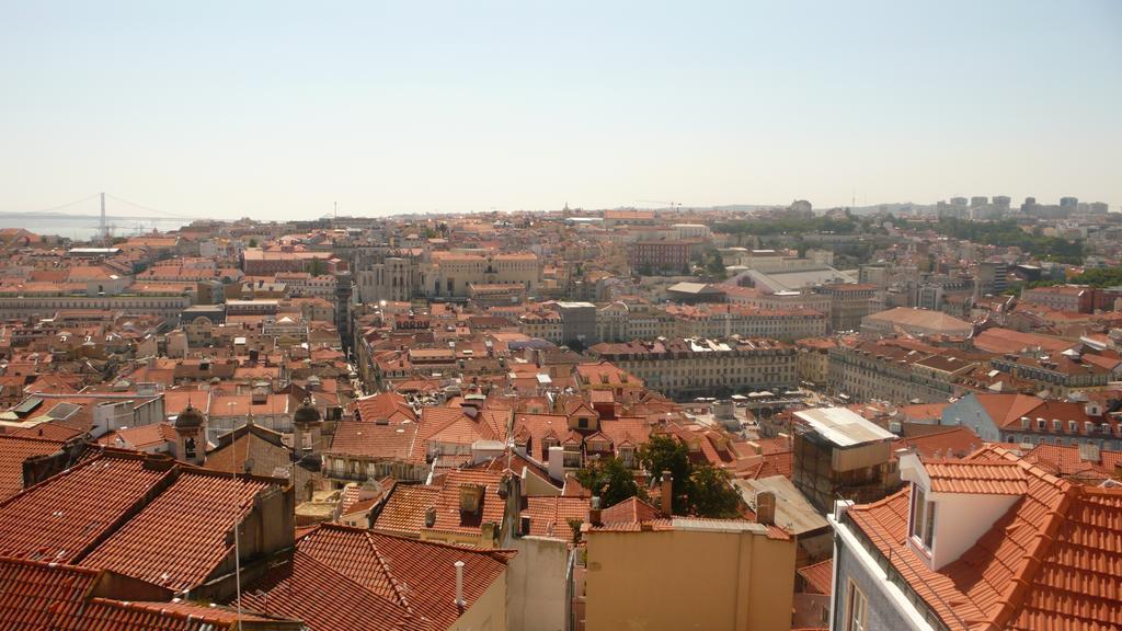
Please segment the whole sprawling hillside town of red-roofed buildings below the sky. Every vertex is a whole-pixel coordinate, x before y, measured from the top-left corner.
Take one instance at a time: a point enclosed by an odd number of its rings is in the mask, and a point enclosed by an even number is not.
[[[0,230],[0,627],[1120,628],[1120,237],[1008,196]]]

